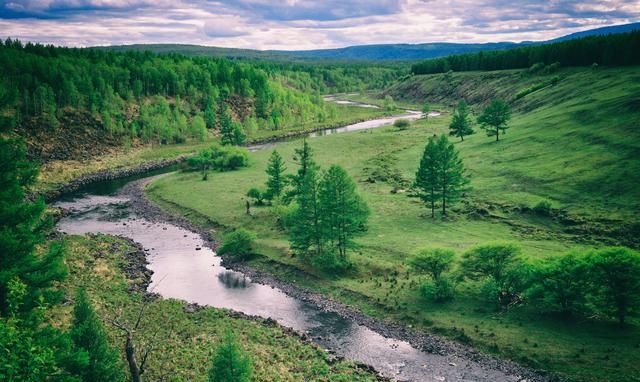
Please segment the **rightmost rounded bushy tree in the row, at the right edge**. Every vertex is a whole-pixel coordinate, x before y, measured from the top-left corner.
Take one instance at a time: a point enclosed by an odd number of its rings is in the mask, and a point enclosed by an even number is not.
[[[640,253],[610,247],[587,255],[592,288],[590,302],[620,325],[640,315]]]

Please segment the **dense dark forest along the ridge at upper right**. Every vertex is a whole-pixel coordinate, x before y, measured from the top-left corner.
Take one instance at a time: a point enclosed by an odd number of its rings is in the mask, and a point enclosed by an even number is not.
[[[627,66],[640,64],[640,31],[591,36],[553,44],[509,50],[460,54],[422,61],[411,67],[414,74],[471,70],[529,68],[535,64],[562,66]]]

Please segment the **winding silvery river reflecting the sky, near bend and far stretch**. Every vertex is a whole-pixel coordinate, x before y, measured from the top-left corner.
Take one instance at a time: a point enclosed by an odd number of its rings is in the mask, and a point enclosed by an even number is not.
[[[415,119],[419,113],[407,112],[364,125],[345,126],[332,133],[384,126],[393,123],[394,118],[407,116]],[[199,234],[136,215],[130,198],[119,187],[125,182],[116,182],[93,186],[58,201],[56,205],[68,211],[58,228],[69,234],[104,233],[138,242],[154,272],[149,288],[165,298],[270,317],[307,333],[328,351],[371,365],[395,380],[522,380],[503,371],[500,363],[487,364],[459,354],[428,353],[408,342],[385,338],[352,319],[293,298],[278,288],[254,283],[242,273],[223,267],[221,259],[205,246]]]

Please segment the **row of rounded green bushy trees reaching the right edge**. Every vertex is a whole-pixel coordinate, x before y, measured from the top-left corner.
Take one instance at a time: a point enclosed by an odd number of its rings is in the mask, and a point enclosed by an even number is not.
[[[574,250],[533,261],[514,243],[478,245],[459,261],[449,249],[418,251],[408,263],[426,275],[420,290],[438,302],[454,298],[456,284],[480,282],[496,306],[530,305],[564,317],[612,318],[623,325],[640,314],[640,253],[624,247]]]

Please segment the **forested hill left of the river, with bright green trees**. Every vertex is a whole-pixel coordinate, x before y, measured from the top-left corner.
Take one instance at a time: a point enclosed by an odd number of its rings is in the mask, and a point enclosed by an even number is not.
[[[362,76],[399,74],[375,71]],[[330,121],[335,106],[320,92],[362,86],[353,73],[7,40],[0,42],[0,126],[25,137],[40,161],[218,134],[241,143],[256,130]]]

